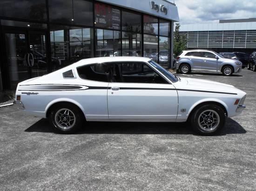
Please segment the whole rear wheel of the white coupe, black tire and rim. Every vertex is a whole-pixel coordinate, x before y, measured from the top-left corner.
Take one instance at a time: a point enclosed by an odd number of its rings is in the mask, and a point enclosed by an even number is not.
[[[70,134],[76,132],[84,121],[81,110],[70,103],[61,103],[51,109],[49,121],[54,130]]]

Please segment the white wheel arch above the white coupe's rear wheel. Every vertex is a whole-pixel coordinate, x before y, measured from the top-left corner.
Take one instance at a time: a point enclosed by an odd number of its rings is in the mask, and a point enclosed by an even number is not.
[[[63,98],[56,99],[56,100],[53,100],[53,101],[49,102],[47,104],[47,106],[46,106],[46,109],[45,109],[46,118],[49,117],[51,109],[54,106],[56,106],[57,104],[61,104],[61,103],[69,103],[69,104],[74,105],[75,107],[80,109],[80,111],[83,113],[84,117],[86,118],[86,116],[85,116],[85,109],[81,106],[81,104],[76,102],[76,101],[74,101],[74,100],[72,100],[72,99],[67,99],[67,98],[66,99],[63,99]]]

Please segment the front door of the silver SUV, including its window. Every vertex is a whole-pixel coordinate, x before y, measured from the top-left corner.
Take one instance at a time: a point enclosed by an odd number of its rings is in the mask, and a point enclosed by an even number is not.
[[[218,69],[218,59],[216,55],[211,52],[202,52],[202,70],[215,70]]]

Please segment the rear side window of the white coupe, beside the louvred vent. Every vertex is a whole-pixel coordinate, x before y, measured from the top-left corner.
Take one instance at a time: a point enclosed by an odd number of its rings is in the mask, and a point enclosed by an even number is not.
[[[99,82],[108,82],[106,72],[108,72],[108,64],[91,64],[77,68],[78,75],[82,79],[93,80]]]

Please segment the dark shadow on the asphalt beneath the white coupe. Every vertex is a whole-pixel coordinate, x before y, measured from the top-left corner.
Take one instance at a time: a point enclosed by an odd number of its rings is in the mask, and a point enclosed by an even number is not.
[[[47,119],[41,119],[25,132],[58,133]],[[215,136],[245,134],[246,130],[236,121],[228,118],[225,127]],[[75,134],[194,134],[188,123],[166,122],[86,122]]]

